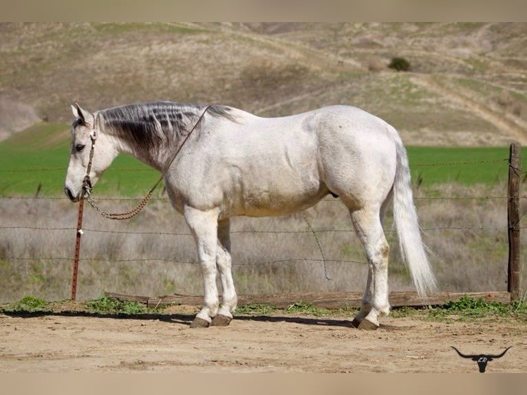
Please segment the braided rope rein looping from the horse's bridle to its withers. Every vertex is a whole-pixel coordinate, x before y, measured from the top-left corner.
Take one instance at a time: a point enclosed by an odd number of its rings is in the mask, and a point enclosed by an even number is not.
[[[161,174],[161,177],[159,178],[159,180],[157,182],[155,182],[154,186],[152,186],[152,188],[150,189],[149,193],[147,193],[147,195],[142,198],[142,200],[139,202],[139,204],[136,206],[135,209],[127,211],[126,213],[107,213],[103,209],[100,209],[100,207],[96,204],[94,198],[92,197],[92,182],[89,180],[89,172],[92,169],[92,160],[94,158],[95,142],[97,140],[97,134],[96,134],[96,127],[95,127],[95,125],[97,123],[98,118],[96,118],[96,122],[94,122],[94,130],[92,131],[92,134],[90,134],[90,138],[92,138],[92,149],[89,151],[88,167],[87,167],[86,175],[85,175],[84,180],[83,180],[83,197],[85,195],[87,196],[86,200],[88,201],[89,205],[92,206],[95,209],[95,211],[97,211],[100,215],[102,215],[103,217],[105,217],[105,218],[107,218],[109,220],[129,220],[131,217],[135,217],[136,215],[138,215],[142,211],[142,209],[144,209],[144,206],[147,205],[147,202],[152,197],[153,191],[160,184],[160,182],[163,180],[164,175],[166,174],[166,171],[169,170],[172,162],[175,160],[175,157],[178,156],[178,153],[180,153],[181,149],[185,145],[186,140],[189,140],[189,137],[191,136],[192,132],[196,129],[197,125],[200,124],[203,116],[205,115],[206,111],[208,111],[208,109],[210,107],[211,106],[208,105],[206,107],[206,109],[202,112],[202,115],[200,116],[200,118],[197,119],[194,127],[191,129],[189,134],[186,135],[185,139],[183,140],[183,142],[180,145],[180,147],[178,148],[178,150],[175,151],[174,156],[172,157],[172,159],[169,162],[168,166],[166,166],[166,168],[164,169],[163,173]],[[98,114],[97,114],[97,116],[98,116]]]

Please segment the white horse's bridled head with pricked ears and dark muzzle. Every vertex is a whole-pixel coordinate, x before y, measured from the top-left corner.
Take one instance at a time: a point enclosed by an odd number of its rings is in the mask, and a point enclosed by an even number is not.
[[[117,151],[109,136],[100,133],[100,125],[94,114],[76,103],[72,105],[72,110],[75,120],[72,124],[72,146],[64,192],[72,202],[78,202],[84,195],[86,175],[89,175],[87,182],[90,186],[94,185],[117,156]]]

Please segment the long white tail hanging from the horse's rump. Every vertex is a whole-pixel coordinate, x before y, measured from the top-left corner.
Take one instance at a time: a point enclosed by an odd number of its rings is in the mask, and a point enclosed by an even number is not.
[[[405,147],[394,127],[389,127],[397,149],[397,167],[394,181],[394,222],[397,228],[400,252],[409,268],[411,279],[420,297],[427,291],[435,292],[437,283],[424,251],[416,206],[410,184],[410,169]]]

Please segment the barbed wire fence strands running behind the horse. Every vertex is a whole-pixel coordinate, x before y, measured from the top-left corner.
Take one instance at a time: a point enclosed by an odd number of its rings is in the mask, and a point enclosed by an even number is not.
[[[466,162],[442,162],[442,163],[433,163],[433,164],[413,164],[413,167],[444,167],[444,166],[464,166],[464,165],[477,165],[477,164],[508,164],[510,168],[510,173],[512,172],[514,175],[516,175],[518,180],[527,178],[527,172],[521,171],[521,164],[519,164],[519,161],[513,163],[512,158],[503,158],[499,160],[477,160],[477,161],[466,161]],[[35,172],[35,171],[65,171],[63,168],[44,168],[44,169],[0,169],[0,174],[2,172],[12,172],[12,173],[25,173],[25,172]],[[114,171],[148,171],[148,169],[114,169]],[[509,182],[510,183],[510,182]],[[519,190],[519,186],[518,186]],[[499,195],[462,195],[462,196],[420,196],[416,195],[414,196],[414,200],[416,201],[416,204],[419,204],[419,202],[430,202],[430,201],[449,201],[449,200],[464,200],[464,201],[482,201],[482,200],[498,200],[507,202],[510,204],[511,200],[517,200],[517,210],[520,209],[519,200],[525,201],[527,199],[526,195],[517,195],[516,198],[511,197],[510,191],[506,193],[504,191],[503,194]],[[35,196],[8,196],[8,197],[0,197],[1,201],[8,201],[8,200],[37,200],[37,201],[49,201],[52,204],[56,201],[66,201],[66,197],[57,197],[57,196],[40,196],[38,193]],[[140,197],[98,197],[98,200],[100,201],[107,201],[107,202],[132,202],[132,201],[138,201],[140,200]],[[169,202],[168,197],[152,197],[152,201],[158,201],[158,202]],[[336,199],[324,199],[323,202],[333,203],[333,202],[339,202],[339,200]],[[527,206],[527,205],[526,205]],[[467,224],[460,224],[456,226],[427,226],[423,227],[422,231],[424,232],[442,232],[442,231],[508,231],[509,233],[511,231],[517,233],[519,237],[519,230],[526,228],[527,226],[521,226],[521,220],[527,215],[527,209],[524,208],[524,211],[521,213],[518,213],[515,218],[511,219],[509,218],[507,226],[488,226],[488,225],[467,225]],[[509,213],[510,216],[510,213]],[[359,260],[359,259],[332,259],[328,258],[324,254],[323,247],[321,245],[321,242],[319,241],[319,235],[323,235],[325,233],[354,233],[354,229],[351,228],[342,228],[342,229],[335,229],[335,228],[314,228],[310,224],[307,217],[303,217],[303,220],[306,224],[308,224],[308,228],[305,230],[291,230],[291,231],[277,231],[277,230],[244,230],[244,231],[231,231],[231,234],[237,235],[237,234],[249,234],[249,235],[265,235],[265,234],[275,234],[275,235],[292,235],[292,234],[311,234],[314,237],[314,242],[316,242],[317,249],[319,250],[320,257],[290,257],[287,259],[260,259],[257,261],[234,261],[233,266],[259,266],[259,265],[270,265],[270,264],[278,264],[278,263],[292,263],[292,262],[300,262],[300,261],[309,261],[309,262],[315,262],[315,263],[323,263],[324,265],[326,263],[339,263],[339,264],[363,264],[366,265],[367,261]],[[460,222],[462,222],[462,218],[460,218]],[[0,235],[1,239],[9,239],[9,237],[12,237],[12,233],[16,233],[17,231],[28,231],[28,232],[44,232],[46,234],[50,234],[53,236],[56,236],[57,233],[62,232],[61,235],[64,235],[64,237],[67,234],[73,235],[76,232],[76,227],[74,226],[72,222],[72,226],[33,226],[33,225],[25,225],[25,224],[0,224]],[[176,237],[192,237],[190,232],[181,232],[181,231],[142,231],[142,230],[111,230],[111,229],[105,229],[105,228],[94,228],[94,227],[86,227],[83,228],[84,232],[87,233],[94,233],[98,235],[162,235],[162,236],[176,236]],[[11,234],[11,235],[10,235]],[[510,237],[510,236],[509,236]],[[72,244],[73,244],[73,236],[72,236]],[[509,247],[510,248],[510,247]],[[519,250],[519,247],[518,247]],[[49,256],[10,256],[6,254],[6,248],[2,248],[0,243],[0,259],[3,261],[58,261],[58,262],[65,262],[65,261],[72,261],[72,257],[68,256],[57,256],[57,255],[49,255]],[[97,256],[87,256],[82,257],[80,261],[108,261],[109,258],[107,257],[97,257]],[[127,259],[119,259],[117,257],[111,258],[112,262],[116,263],[131,263],[131,262],[151,262],[151,261],[160,261],[160,262],[173,262],[178,264],[197,264],[197,261],[195,259],[188,259],[188,260],[181,260],[181,259],[173,259],[173,258],[167,258],[167,257],[132,257]],[[519,280],[517,279],[518,275],[521,276],[521,273],[519,273],[519,261],[517,262],[515,267],[510,267],[510,257],[508,262],[508,292],[515,293],[515,297],[513,299],[517,299],[518,295],[521,295],[521,289],[519,289]],[[514,266],[514,264],[513,264]],[[516,277],[510,278],[510,272],[511,270],[516,270],[517,274]],[[327,276],[327,272],[325,270],[324,266],[324,273],[326,279],[330,279],[330,277]],[[518,274],[519,273],[519,274]],[[514,281],[515,284],[510,284],[511,281]],[[512,289],[511,289],[512,286]]]

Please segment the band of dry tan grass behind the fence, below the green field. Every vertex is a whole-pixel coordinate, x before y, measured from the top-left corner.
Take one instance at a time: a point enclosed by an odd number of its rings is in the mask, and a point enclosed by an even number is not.
[[[468,190],[452,185],[427,191],[427,195],[430,193],[440,193],[443,197],[504,195],[503,188]],[[422,191],[416,194],[424,197]],[[416,202],[424,240],[432,251],[431,259],[442,290],[506,290],[506,200],[418,199]],[[103,202],[107,209],[117,211],[124,209],[125,204]],[[305,216],[316,231],[337,230],[316,233],[327,259],[325,269],[330,280],[325,279],[321,251],[303,214],[261,219],[237,217],[231,228],[233,270],[239,293],[363,290],[366,265],[336,262],[365,262],[354,232],[342,232],[352,228],[343,205],[338,200],[324,200],[305,211]],[[1,201],[0,217],[1,226],[69,228],[0,229],[0,278],[3,279],[0,302],[17,300],[27,294],[48,300],[69,297],[76,205],[64,200],[6,199]],[[193,239],[182,216],[165,200],[149,204],[144,213],[127,222],[105,220],[87,207],[83,226],[86,231],[82,240],[78,299],[93,299],[104,291],[149,296],[202,292]],[[465,229],[442,229],[458,227]],[[409,275],[400,262],[395,235],[391,232],[390,215],[385,229],[392,246],[390,288],[411,290]],[[265,233],[268,231],[272,233]],[[289,231],[305,233],[280,233]]]

